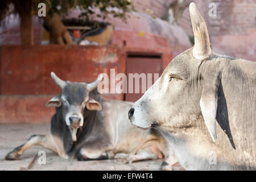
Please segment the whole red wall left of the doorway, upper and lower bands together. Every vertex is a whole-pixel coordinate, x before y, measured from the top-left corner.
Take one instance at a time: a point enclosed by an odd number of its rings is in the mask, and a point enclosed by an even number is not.
[[[50,122],[55,108],[46,102],[61,92],[52,81],[92,82],[98,74],[125,72],[125,51],[118,46],[0,47],[0,123]],[[123,100],[123,94],[105,96]]]

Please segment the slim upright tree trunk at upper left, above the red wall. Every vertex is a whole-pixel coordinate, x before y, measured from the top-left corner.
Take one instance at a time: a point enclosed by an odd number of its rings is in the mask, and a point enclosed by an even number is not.
[[[20,15],[20,34],[22,45],[34,44],[34,30],[32,24],[33,8],[32,0],[23,1],[22,9],[19,11]]]

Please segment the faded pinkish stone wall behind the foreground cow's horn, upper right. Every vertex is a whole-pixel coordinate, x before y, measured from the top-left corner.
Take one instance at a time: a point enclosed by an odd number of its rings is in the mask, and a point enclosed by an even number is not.
[[[207,23],[210,42],[216,52],[256,61],[256,1],[207,0],[194,1]],[[209,3],[215,3],[217,16],[209,16]],[[180,26],[193,35],[188,8],[180,19]]]

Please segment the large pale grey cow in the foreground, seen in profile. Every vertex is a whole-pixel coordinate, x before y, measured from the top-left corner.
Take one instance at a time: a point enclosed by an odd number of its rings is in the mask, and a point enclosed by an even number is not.
[[[195,46],[176,56],[129,111],[158,129],[189,170],[256,169],[256,63],[218,55],[195,3]]]

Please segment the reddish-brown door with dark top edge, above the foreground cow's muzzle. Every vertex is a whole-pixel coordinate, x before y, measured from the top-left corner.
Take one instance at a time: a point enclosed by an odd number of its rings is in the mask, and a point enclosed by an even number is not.
[[[159,77],[162,74],[162,55],[151,53],[128,53],[126,58],[126,76],[127,76],[127,93],[125,101],[135,102],[143,96],[142,93],[142,78],[139,78],[139,93],[135,93],[135,78],[129,78],[129,73],[134,74],[144,73],[146,75],[146,89],[150,86],[150,76],[152,75],[152,84],[154,84],[154,74],[158,73]],[[133,93],[129,93],[129,79],[133,80]]]

